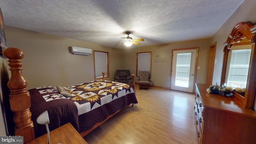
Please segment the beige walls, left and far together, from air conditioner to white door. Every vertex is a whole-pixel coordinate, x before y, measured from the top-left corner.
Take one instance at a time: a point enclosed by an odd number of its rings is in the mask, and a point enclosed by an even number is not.
[[[24,51],[23,73],[28,80],[28,89],[40,86],[69,86],[94,80],[93,55],[70,54],[69,46],[109,52],[108,80],[114,80],[114,72],[118,69],[128,69],[132,74],[136,74],[136,52],[152,51],[151,84],[164,88],[170,87],[172,49],[199,47],[200,70],[196,82],[206,82],[210,39],[121,50],[10,26],[6,26],[6,36],[8,47],[20,48]],[[157,54],[166,58],[166,62],[154,62]],[[138,81],[137,78],[135,80]]]

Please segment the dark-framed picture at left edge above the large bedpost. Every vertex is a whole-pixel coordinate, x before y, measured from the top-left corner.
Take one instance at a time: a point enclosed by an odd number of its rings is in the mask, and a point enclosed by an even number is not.
[[[3,55],[3,51],[5,48],[7,48],[7,42],[6,42],[3,14],[0,8],[0,56],[3,58],[5,58]]]

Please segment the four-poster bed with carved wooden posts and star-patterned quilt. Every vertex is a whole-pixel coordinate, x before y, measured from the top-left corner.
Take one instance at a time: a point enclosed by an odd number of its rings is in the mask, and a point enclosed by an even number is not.
[[[44,125],[36,123],[36,118],[48,110],[50,130],[68,122],[86,136],[100,124],[114,116],[126,106],[136,107],[134,74],[132,86],[105,80],[84,82],[72,86],[44,86],[27,90],[28,82],[23,77],[22,61],[24,53],[18,48],[6,48],[11,78],[10,107],[14,112],[16,136],[24,136],[24,143],[46,134]]]

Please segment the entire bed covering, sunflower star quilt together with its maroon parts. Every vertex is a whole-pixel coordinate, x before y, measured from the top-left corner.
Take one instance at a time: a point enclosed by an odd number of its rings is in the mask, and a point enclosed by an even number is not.
[[[96,80],[64,89],[72,96],[65,97],[52,86],[28,90],[36,138],[47,133],[45,126],[36,122],[45,110],[48,110],[50,130],[70,122],[81,133],[125,106],[138,103],[134,90],[119,82]]]

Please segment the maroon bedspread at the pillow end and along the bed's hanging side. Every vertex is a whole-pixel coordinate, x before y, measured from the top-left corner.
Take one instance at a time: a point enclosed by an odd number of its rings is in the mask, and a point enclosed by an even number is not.
[[[50,131],[70,122],[81,133],[92,128],[97,122],[102,122],[109,115],[114,114],[125,106],[138,103],[132,90],[132,93],[118,97],[107,104],[78,115],[77,105],[70,98],[62,96],[58,90],[51,86],[33,88],[28,91],[30,92],[31,119],[34,122],[36,138],[47,133],[45,125],[37,124],[36,122],[36,118],[45,110],[48,110],[49,114]]]

